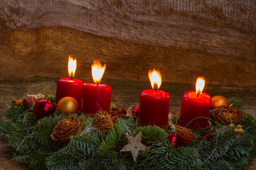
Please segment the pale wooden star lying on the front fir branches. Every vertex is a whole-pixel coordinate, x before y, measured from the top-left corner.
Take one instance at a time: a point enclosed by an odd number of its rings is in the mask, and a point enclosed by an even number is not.
[[[124,133],[124,136],[127,137],[128,145],[125,145],[125,147],[121,149],[120,152],[132,152],[134,162],[136,162],[139,151],[149,150],[148,147],[141,143],[142,131],[139,132],[134,138],[128,135],[127,133]]]

